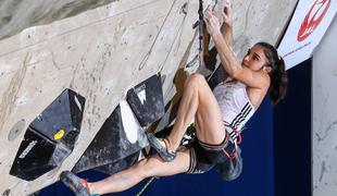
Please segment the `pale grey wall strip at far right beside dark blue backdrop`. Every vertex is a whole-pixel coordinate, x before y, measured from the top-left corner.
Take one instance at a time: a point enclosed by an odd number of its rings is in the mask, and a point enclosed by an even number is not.
[[[312,60],[312,189],[313,196],[337,192],[337,19],[335,16]]]

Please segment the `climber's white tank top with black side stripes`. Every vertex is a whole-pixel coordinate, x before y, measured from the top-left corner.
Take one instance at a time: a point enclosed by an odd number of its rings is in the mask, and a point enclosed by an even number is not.
[[[241,131],[255,111],[249,100],[246,87],[245,84],[238,81],[227,78],[213,89],[225,125],[238,132]]]

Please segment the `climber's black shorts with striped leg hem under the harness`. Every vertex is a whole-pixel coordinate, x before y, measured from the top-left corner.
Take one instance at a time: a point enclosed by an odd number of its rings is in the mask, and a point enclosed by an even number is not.
[[[228,156],[235,151],[235,146],[226,136],[222,144],[211,145],[195,139],[187,146],[190,151],[190,162],[187,173],[204,173],[210,171],[216,163],[225,162]]]

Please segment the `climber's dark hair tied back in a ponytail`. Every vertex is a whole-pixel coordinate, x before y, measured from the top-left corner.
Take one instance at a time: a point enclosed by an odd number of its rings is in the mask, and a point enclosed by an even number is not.
[[[285,69],[285,61],[274,46],[267,42],[258,42],[255,45],[263,47],[266,63],[272,68],[272,71],[269,73],[271,76],[270,98],[272,105],[276,105],[287,93],[288,76]]]

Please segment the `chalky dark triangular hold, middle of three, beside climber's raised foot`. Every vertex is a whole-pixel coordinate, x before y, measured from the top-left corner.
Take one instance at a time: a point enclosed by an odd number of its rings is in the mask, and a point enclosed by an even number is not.
[[[103,167],[108,173],[120,171],[125,167],[134,163],[134,160],[123,160],[128,156],[137,154],[148,145],[148,139],[142,127],[135,121],[135,128],[133,134],[136,134],[135,140],[129,140],[123,123],[122,107],[118,105],[110,117],[105,120],[86,151],[75,164],[73,172],[80,172],[98,167]],[[132,114],[133,115],[133,114]],[[127,117],[127,118],[134,118]],[[129,122],[130,123],[130,122]],[[109,164],[113,166],[109,166]],[[121,166],[120,166],[121,164]],[[123,166],[122,166],[123,164]],[[108,167],[108,168],[107,168]],[[110,167],[110,169],[109,169]],[[111,168],[112,167],[112,168]]]

